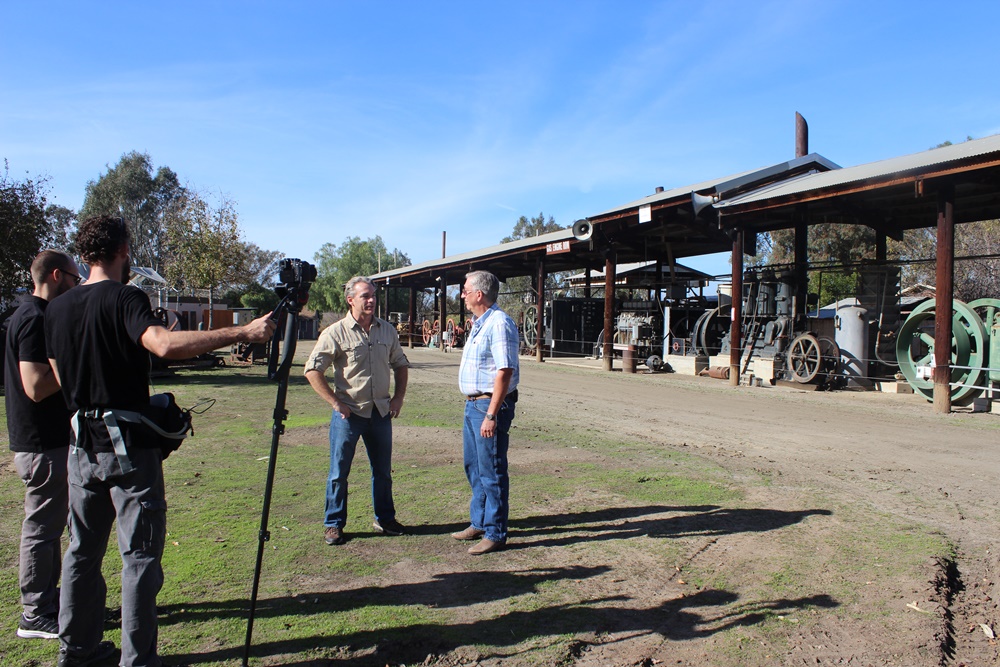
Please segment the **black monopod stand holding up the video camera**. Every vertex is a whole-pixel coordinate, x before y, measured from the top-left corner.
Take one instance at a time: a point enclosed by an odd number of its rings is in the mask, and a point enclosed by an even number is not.
[[[253,591],[250,594],[250,618],[247,620],[247,639],[243,647],[243,667],[248,667],[250,660],[250,641],[253,636],[253,617],[257,610],[257,589],[260,584],[260,566],[264,558],[264,543],[271,539],[267,529],[267,519],[271,512],[271,491],[274,488],[275,462],[278,460],[278,439],[285,433],[285,420],[288,410],[285,409],[285,398],[288,395],[288,371],[295,356],[295,344],[299,338],[299,312],[309,300],[309,285],[285,287],[281,303],[274,309],[278,326],[271,339],[271,350],[267,359],[267,377],[278,381],[278,395],[274,402],[274,424],[271,426],[271,455],[267,462],[267,483],[264,486],[264,506],[260,515],[260,532],[257,543],[257,565],[253,571]],[[280,293],[280,292],[279,292]],[[284,327],[282,327],[284,325]],[[281,350],[281,361],[278,361],[278,348],[281,332],[284,330],[285,345]]]

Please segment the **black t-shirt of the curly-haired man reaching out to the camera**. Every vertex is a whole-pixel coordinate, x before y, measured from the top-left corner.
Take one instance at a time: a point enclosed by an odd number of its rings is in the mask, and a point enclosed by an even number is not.
[[[70,410],[138,411],[149,404],[149,352],[140,340],[151,326],[163,323],[153,316],[149,297],[113,280],[52,300],[45,340]]]

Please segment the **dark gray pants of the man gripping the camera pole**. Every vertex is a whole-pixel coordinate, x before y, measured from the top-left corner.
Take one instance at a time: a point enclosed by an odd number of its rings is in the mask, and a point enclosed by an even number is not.
[[[104,633],[107,585],[101,562],[118,520],[122,557],[122,667],[159,667],[156,595],[167,503],[158,449],[130,448],[123,475],[113,452],[69,452],[69,548],[63,559],[59,640],[73,654],[93,651]]]

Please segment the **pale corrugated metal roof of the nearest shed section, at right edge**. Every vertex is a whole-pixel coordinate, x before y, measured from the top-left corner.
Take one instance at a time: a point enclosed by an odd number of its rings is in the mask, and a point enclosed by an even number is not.
[[[815,190],[836,188],[850,183],[889,180],[893,176],[912,175],[928,167],[943,166],[949,162],[959,162],[961,160],[986,156],[991,153],[996,153],[996,157],[1000,159],[1000,134],[983,139],[973,139],[961,144],[932,148],[931,150],[912,155],[799,176],[781,183],[765,186],[744,195],[724,199],[714,204],[714,206],[724,211],[726,208],[732,206],[767,201],[769,199],[780,199]]]

